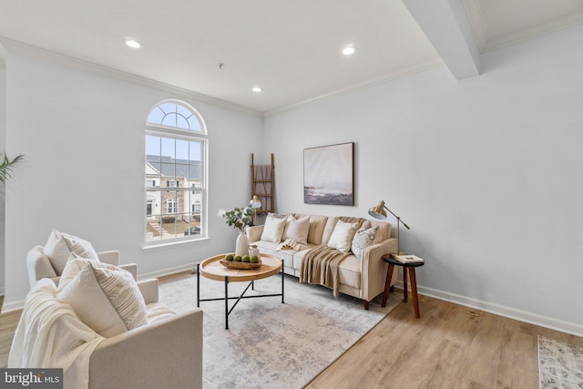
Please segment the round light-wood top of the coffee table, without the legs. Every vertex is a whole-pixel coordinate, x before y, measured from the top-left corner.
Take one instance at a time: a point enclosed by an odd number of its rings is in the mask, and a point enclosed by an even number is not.
[[[281,271],[281,260],[271,254],[261,254],[261,268],[259,269],[230,269],[220,264],[227,254],[220,254],[200,262],[199,271],[206,278],[229,282],[255,281],[267,278]]]

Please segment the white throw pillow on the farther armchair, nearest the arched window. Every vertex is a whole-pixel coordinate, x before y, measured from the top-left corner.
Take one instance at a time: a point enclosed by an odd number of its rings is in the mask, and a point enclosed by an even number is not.
[[[65,269],[66,261],[69,259],[71,252],[75,252],[89,260],[99,261],[97,251],[93,249],[91,243],[53,229],[43,248],[43,253],[53,265],[56,275],[61,275],[63,269]]]

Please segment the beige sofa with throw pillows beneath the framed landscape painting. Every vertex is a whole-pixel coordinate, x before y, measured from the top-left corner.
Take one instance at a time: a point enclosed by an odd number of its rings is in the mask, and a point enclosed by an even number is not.
[[[273,227],[274,224],[277,224],[277,228]],[[344,243],[340,248],[347,255],[338,264],[337,289],[338,292],[362,299],[364,309],[367,310],[369,302],[384,292],[387,263],[382,257],[397,251],[397,239],[392,235],[390,223],[350,217],[270,213],[265,224],[248,227],[246,232],[250,245],[257,246],[261,253],[281,258],[283,272],[300,278],[302,282],[302,261],[306,254],[318,247],[338,247],[337,232],[346,228],[347,224],[357,224],[357,228],[353,231],[350,249],[346,251]],[[355,244],[356,238],[362,238],[371,230],[376,231],[374,237],[365,236],[360,245]],[[344,238],[350,238],[350,232]],[[333,245],[332,240],[335,243]],[[390,286],[396,281],[395,271]]]

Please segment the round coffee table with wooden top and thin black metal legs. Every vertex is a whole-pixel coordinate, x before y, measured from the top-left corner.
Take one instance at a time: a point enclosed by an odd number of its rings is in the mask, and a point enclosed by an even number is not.
[[[220,254],[201,261],[197,265],[197,307],[200,308],[200,302],[211,302],[217,300],[225,301],[225,329],[229,329],[229,314],[240,302],[240,299],[252,299],[258,297],[281,296],[283,303],[283,273],[281,273],[281,293],[273,294],[254,294],[245,296],[245,292],[251,287],[254,290],[256,280],[271,277],[278,272],[283,271],[283,261],[271,254],[261,254],[261,267],[258,269],[232,269],[223,266],[220,260],[224,260],[227,254]],[[201,299],[200,298],[200,275],[210,280],[225,282],[225,296],[220,298]],[[229,282],[249,282],[247,288],[240,293],[240,296],[229,297]],[[229,308],[229,300],[237,300]]]

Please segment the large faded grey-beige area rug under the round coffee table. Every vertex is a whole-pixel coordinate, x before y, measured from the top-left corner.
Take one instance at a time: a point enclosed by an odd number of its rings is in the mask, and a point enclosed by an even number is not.
[[[370,303],[349,296],[333,298],[330,289],[285,276],[281,297],[243,299],[230,313],[225,330],[223,301],[200,302],[203,320],[203,387],[302,388],[346,352],[401,301],[391,293]],[[248,282],[231,282],[237,295]],[[249,293],[281,292],[281,274],[255,282]],[[159,301],[176,312],[197,306],[196,275],[160,283]],[[224,296],[224,283],[200,277],[202,299]],[[230,301],[230,306],[233,301]]]

